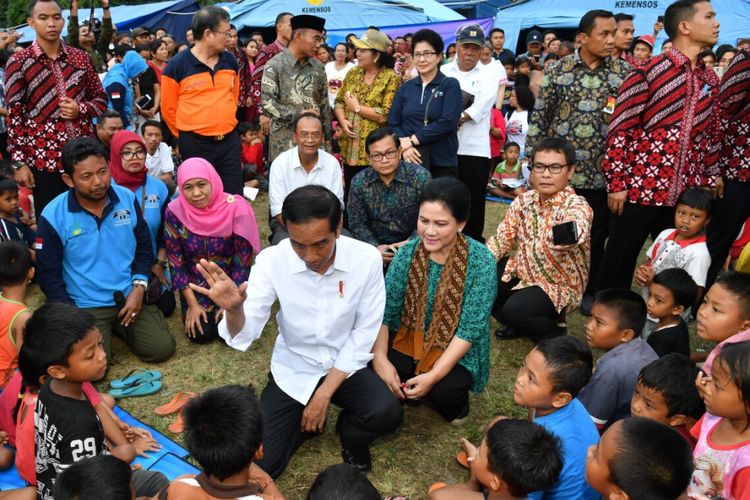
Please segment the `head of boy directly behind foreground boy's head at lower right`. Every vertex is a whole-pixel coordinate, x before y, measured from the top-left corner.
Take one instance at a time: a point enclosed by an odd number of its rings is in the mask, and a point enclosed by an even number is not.
[[[695,446],[690,429],[706,407],[695,387],[698,367],[682,354],[667,354],[647,364],[638,374],[630,414],[668,425]]]

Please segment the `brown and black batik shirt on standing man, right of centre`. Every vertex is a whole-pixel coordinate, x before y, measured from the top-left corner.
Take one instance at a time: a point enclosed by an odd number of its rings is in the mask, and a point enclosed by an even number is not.
[[[620,58],[607,58],[594,69],[578,52],[544,70],[542,86],[529,119],[526,156],[545,137],[562,137],[576,149],[571,185],[604,190],[602,173],[607,128],[617,91],[630,71]]]

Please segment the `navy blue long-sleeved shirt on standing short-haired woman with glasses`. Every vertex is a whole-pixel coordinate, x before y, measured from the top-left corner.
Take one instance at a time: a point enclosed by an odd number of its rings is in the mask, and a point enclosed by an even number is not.
[[[428,124],[424,124],[427,103]],[[388,126],[399,137],[417,136],[419,144],[429,146],[434,167],[458,166],[458,120],[463,112],[463,97],[458,80],[438,71],[427,85],[420,77],[407,81],[396,92],[388,113]]]

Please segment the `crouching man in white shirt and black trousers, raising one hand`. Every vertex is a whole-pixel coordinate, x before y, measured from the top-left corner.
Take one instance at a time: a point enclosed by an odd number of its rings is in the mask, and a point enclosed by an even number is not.
[[[258,465],[279,476],[302,442],[323,432],[333,402],[342,409],[336,432],[344,461],[369,472],[370,443],[403,419],[396,397],[367,366],[385,308],[380,253],[340,236],[341,202],[323,186],[292,191],[281,216],[289,238],[258,255],[247,283],[237,287],[218,265],[201,260],[209,288],[190,287],[226,311],[219,335],[242,351],[260,337],[279,301],[279,335],[260,397]]]

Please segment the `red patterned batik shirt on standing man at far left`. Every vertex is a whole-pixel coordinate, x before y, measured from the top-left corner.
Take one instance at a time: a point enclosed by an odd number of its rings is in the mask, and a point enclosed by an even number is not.
[[[59,56],[52,59],[34,41],[11,56],[5,71],[12,161],[62,172],[63,146],[76,137],[93,136],[93,119],[107,109],[107,94],[91,56],[61,44]],[[63,96],[78,102],[75,120],[62,118]]]

